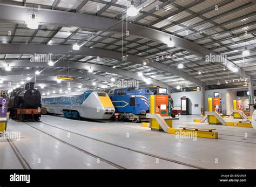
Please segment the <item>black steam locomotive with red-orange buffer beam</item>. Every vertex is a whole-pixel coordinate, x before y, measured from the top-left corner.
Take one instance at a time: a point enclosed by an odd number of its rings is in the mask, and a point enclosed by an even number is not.
[[[10,117],[19,121],[39,121],[41,117],[41,93],[34,88],[35,83],[26,83],[24,88],[16,88],[9,95]]]

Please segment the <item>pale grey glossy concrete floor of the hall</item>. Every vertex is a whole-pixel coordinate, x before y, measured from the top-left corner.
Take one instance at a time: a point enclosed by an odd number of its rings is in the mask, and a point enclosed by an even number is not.
[[[216,127],[219,139],[180,139],[140,123],[48,115],[43,123],[27,122],[30,126],[10,120],[7,130],[21,132],[21,140],[11,140],[32,169],[256,169],[255,129],[194,123],[199,116],[179,117],[174,127]],[[6,138],[0,138],[0,145],[0,169],[21,169]]]

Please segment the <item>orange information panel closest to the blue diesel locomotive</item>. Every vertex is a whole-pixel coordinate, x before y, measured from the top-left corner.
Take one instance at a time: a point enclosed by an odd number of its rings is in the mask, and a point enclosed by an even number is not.
[[[161,116],[168,115],[168,95],[155,95],[156,96],[156,114]]]

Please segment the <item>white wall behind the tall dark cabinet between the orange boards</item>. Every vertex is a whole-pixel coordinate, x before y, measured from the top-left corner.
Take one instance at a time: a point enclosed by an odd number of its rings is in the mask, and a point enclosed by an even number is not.
[[[188,98],[188,112],[190,115],[200,115],[201,114],[201,96],[200,92],[176,92],[171,93],[173,99],[173,105],[181,104],[180,98],[186,96]],[[194,107],[194,104],[198,104],[198,107]],[[180,109],[174,107],[174,109]]]

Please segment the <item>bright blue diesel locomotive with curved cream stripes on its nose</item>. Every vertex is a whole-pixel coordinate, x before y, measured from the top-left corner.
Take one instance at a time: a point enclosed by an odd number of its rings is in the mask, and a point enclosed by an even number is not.
[[[109,88],[104,89],[104,92],[109,94],[120,118],[133,122],[146,120],[146,113],[150,110],[150,95],[153,95],[149,89]]]

